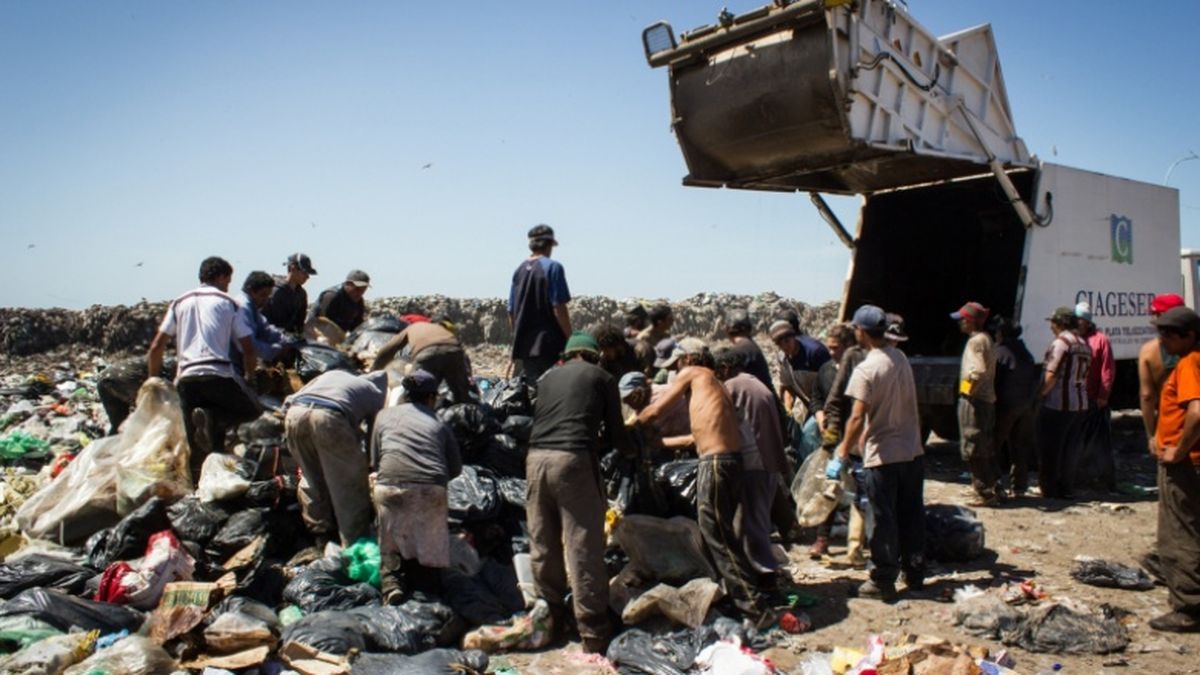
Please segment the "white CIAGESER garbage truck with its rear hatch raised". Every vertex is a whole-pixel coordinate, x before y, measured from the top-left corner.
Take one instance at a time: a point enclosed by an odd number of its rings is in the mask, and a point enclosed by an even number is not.
[[[1039,359],[1046,317],[1087,301],[1112,404],[1136,406],[1150,301],[1183,291],[1178,192],[1031,155],[990,25],[936,37],[893,0],[776,0],[678,36],[658,22],[642,44],[668,70],[683,184],[809,193],[851,250],[841,317],[905,317],[925,429],[958,436],[949,313],[967,300],[1019,322]],[[823,193],[862,198],[853,234]]]

